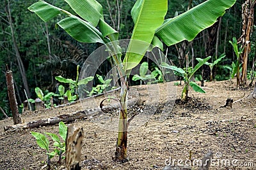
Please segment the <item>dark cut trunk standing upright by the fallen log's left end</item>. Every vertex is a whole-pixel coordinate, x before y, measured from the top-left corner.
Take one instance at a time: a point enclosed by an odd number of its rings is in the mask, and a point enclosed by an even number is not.
[[[15,97],[12,71],[7,70],[5,76],[6,76],[6,83],[7,83],[7,89],[8,89],[10,108],[12,110],[13,123],[15,125],[20,124],[21,123],[21,118],[20,118],[20,115],[19,115],[19,110],[18,110],[17,101],[16,101],[16,97]]]

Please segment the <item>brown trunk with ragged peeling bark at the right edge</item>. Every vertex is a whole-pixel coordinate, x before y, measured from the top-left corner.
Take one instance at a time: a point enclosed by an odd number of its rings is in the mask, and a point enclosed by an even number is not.
[[[243,33],[241,36],[241,42],[244,50],[240,58],[242,62],[242,74],[240,79],[241,86],[246,85],[247,80],[247,62],[248,54],[251,51],[250,35],[253,27],[253,13],[255,3],[256,1],[246,0],[242,5]]]

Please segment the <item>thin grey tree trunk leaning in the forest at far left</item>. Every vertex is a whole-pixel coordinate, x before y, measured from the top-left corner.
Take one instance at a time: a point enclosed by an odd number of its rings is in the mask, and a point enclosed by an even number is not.
[[[24,65],[23,65],[22,59],[20,57],[19,48],[18,48],[18,45],[16,43],[16,39],[15,39],[15,34],[14,34],[14,30],[13,30],[13,25],[12,25],[12,16],[11,16],[11,9],[10,9],[10,2],[9,2],[9,0],[8,0],[7,6],[8,6],[8,8],[6,9],[6,13],[8,14],[8,22],[10,24],[10,29],[11,29],[11,32],[12,32],[13,47],[14,47],[15,54],[16,54],[16,57],[17,57],[17,62],[18,62],[20,74],[22,76],[22,81],[23,81],[24,89],[26,89],[28,97],[31,98],[30,93],[29,93],[28,80],[27,80],[27,77],[26,77]]]

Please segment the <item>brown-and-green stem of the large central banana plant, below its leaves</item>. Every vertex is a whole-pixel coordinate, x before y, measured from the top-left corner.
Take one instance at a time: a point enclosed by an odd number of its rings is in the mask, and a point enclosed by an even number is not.
[[[125,78],[121,81],[120,112],[118,122],[118,139],[116,143],[115,161],[127,161],[127,96],[128,86]]]

